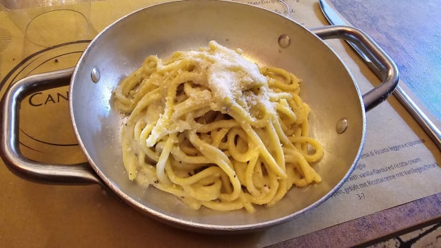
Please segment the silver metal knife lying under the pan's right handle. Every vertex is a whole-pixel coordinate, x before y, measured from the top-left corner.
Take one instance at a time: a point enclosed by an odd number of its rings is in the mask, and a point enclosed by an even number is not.
[[[319,0],[318,3],[320,4],[320,9],[322,10],[323,14],[325,14],[326,19],[329,21],[329,23],[331,23],[331,25],[350,26],[350,24],[342,19],[338,12],[334,8],[332,8],[326,0]],[[350,41],[347,41],[347,43],[351,45],[351,48],[353,48],[353,50],[355,50],[358,55],[360,55],[361,59],[365,61],[369,68],[376,74],[376,76],[378,76],[379,79],[382,79],[383,75],[381,74],[381,70],[379,70],[379,68],[377,68],[374,63],[372,63],[372,61],[366,56],[366,54],[362,50],[360,50],[357,45],[354,45]],[[430,120],[427,114],[424,114],[420,107],[416,105],[411,97],[406,92],[404,92],[404,90],[402,90],[402,87],[400,87],[400,83],[398,83],[396,90],[393,92],[393,95],[396,96],[398,101],[400,101],[400,103],[406,108],[411,116],[413,116],[413,118],[422,127],[424,132],[429,135],[429,137],[432,139],[438,149],[441,149],[440,130]]]

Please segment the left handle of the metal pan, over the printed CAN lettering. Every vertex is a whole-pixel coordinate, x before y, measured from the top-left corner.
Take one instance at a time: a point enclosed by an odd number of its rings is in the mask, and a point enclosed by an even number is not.
[[[28,92],[47,90],[68,85],[73,68],[29,76],[17,83],[3,96],[0,115],[0,156],[11,172],[27,180],[58,185],[85,185],[98,183],[101,179],[88,163],[76,165],[45,164],[30,161],[19,149],[19,108]]]

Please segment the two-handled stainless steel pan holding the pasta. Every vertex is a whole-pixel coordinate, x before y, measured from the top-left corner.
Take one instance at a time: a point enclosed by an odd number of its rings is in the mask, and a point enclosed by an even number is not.
[[[360,94],[353,76],[322,41],[349,40],[382,70],[383,82]],[[294,188],[278,204],[245,211],[188,209],[150,187],[146,192],[127,179],[121,159],[121,116],[112,109],[116,85],[149,54],[168,56],[216,40],[241,48],[260,65],[285,68],[302,79],[301,96],[311,107],[310,132],[325,148],[315,165],[322,183]],[[45,165],[19,152],[19,101],[36,87],[70,81],[70,114],[86,165]],[[198,231],[252,231],[313,209],[329,198],[352,172],[365,140],[365,110],[384,101],[398,82],[387,54],[366,34],[344,26],[307,30],[274,12],[228,1],[176,1],[136,11],[105,28],[72,70],[23,79],[3,99],[1,156],[18,176],[45,183],[99,183],[135,209],[165,223]]]

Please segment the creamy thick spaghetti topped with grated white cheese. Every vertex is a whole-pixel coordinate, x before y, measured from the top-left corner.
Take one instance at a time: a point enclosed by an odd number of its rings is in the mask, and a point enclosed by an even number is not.
[[[258,67],[216,41],[151,55],[114,91],[130,180],[174,194],[194,209],[255,211],[293,187],[320,183],[323,156],[309,137],[299,80]]]

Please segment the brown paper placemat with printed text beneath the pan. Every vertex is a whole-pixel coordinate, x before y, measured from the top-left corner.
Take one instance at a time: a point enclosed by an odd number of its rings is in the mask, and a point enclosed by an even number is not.
[[[93,2],[92,24],[96,30],[102,30],[124,14],[156,2]],[[287,1],[288,10],[278,1],[243,2],[288,14],[289,18],[308,28],[327,25],[316,1]],[[7,85],[28,74],[73,66],[87,45],[68,45],[29,59],[29,54],[22,52],[25,49],[21,34],[4,12],[0,12],[0,28],[12,34],[12,42],[1,51],[0,76],[8,79],[3,82],[5,85],[1,85],[1,94]],[[362,92],[372,87],[371,82],[378,84],[378,79],[345,43],[336,40],[327,43],[347,64]],[[81,149],[75,145],[65,99],[67,90],[68,87],[61,87],[35,92],[23,100],[21,149],[28,157],[51,163],[85,161]],[[440,161],[441,155],[435,145],[391,97],[367,112],[367,136],[362,158],[335,196],[283,225],[228,238],[202,236],[158,223],[102,194],[96,185],[40,185],[18,178],[5,166],[0,166],[3,189],[0,194],[0,220],[3,221],[0,246],[264,247],[438,193],[441,191],[438,183]]]

